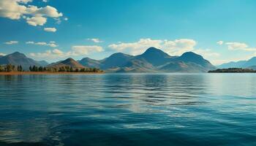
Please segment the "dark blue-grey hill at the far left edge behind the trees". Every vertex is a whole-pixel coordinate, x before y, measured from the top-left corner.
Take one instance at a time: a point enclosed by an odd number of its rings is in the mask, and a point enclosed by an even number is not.
[[[1,56],[0,65],[12,64],[15,66],[21,65],[23,69],[28,70],[29,66],[42,66],[42,61],[34,61],[27,58],[23,53],[15,52],[9,55]]]

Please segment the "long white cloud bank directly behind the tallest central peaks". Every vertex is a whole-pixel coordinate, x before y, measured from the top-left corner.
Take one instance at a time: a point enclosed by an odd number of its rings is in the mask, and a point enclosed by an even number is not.
[[[148,47],[157,47],[170,55],[181,55],[184,52],[194,50],[196,44],[197,42],[193,39],[176,39],[173,41],[161,39],[140,39],[138,42],[119,42],[118,44],[112,44],[108,47],[118,52],[130,53],[132,55],[143,53],[148,49]]]

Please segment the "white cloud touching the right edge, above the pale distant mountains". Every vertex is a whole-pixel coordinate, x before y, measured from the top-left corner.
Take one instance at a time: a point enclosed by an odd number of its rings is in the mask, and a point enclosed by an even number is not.
[[[228,50],[256,51],[256,47],[249,47],[243,42],[226,42]]]

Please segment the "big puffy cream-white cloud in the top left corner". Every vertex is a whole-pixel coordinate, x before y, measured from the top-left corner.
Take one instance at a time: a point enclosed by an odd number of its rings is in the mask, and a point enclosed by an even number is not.
[[[12,20],[26,19],[31,26],[43,26],[47,18],[63,16],[55,7],[28,5],[33,0],[0,0],[0,17]]]

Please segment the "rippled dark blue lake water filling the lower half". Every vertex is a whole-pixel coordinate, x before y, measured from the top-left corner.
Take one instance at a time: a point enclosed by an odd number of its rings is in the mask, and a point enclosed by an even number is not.
[[[0,76],[0,145],[256,145],[256,74]]]

